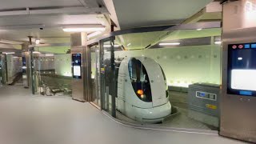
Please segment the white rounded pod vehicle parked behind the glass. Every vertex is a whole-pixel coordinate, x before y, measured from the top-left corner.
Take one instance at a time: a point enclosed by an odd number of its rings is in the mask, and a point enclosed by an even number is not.
[[[117,110],[139,122],[162,122],[171,113],[166,77],[152,58],[124,58],[118,70]]]

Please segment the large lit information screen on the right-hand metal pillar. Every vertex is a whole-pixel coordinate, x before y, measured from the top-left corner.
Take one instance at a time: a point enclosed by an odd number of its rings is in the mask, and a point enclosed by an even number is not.
[[[227,93],[256,96],[256,42],[228,46]]]

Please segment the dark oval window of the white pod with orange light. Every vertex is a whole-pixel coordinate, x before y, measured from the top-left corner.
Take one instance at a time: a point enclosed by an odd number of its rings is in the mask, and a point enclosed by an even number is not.
[[[128,63],[128,70],[135,94],[143,102],[152,102],[150,79],[142,62],[136,58],[131,58]]]

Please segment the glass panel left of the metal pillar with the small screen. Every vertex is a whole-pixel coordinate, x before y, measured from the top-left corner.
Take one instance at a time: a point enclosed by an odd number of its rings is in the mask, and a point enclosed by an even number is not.
[[[70,97],[72,93],[70,46],[36,47],[33,56],[36,94]]]

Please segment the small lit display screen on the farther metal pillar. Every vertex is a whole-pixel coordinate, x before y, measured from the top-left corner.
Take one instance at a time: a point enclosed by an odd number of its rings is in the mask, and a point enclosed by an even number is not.
[[[81,54],[72,54],[73,78],[82,78]]]

